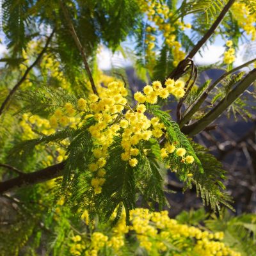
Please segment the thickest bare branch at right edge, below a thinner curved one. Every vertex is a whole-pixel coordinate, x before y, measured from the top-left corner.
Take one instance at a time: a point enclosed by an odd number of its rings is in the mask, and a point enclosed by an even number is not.
[[[218,103],[218,105],[209,111],[209,113],[194,124],[184,126],[182,132],[189,136],[193,136],[204,130],[207,125],[211,124],[216,118],[218,118],[218,116],[220,116],[225,109],[227,109],[228,106],[230,106],[234,100],[236,100],[255,80],[256,68],[249,72],[248,75],[244,77],[244,79]]]

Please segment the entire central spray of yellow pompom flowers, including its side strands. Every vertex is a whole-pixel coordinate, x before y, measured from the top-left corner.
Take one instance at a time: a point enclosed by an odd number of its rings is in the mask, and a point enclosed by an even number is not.
[[[108,158],[108,148],[113,143],[115,136],[122,138],[121,145],[124,148],[121,155],[122,160],[128,161],[134,167],[138,164],[136,156],[140,154],[137,146],[140,141],[147,141],[152,136],[159,139],[165,135],[164,125],[157,117],[149,120],[144,114],[146,106],[143,104],[144,102],[156,104],[158,97],[166,99],[169,95],[174,95],[179,99],[185,94],[185,84],[181,80],[167,79],[164,85],[163,87],[161,82],[154,81],[152,85],[146,85],[143,88],[143,93],[134,93],[134,99],[139,104],[132,109],[125,98],[127,90],[124,84],[112,81],[106,88],[99,91],[99,96],[91,93],[88,99],[77,100],[76,106],[66,103],[62,108],[56,109],[54,115],[50,117],[49,122],[52,127],[57,127],[59,124],[67,125],[70,118],[75,118],[74,115],[81,116],[84,112],[90,113],[90,115],[86,115],[85,119],[93,117],[95,120],[95,124],[88,128],[93,138],[93,159],[88,168],[93,173],[91,185],[95,194],[102,191],[102,185],[105,182],[106,169],[104,167]],[[123,113],[124,109],[126,110],[125,113]],[[76,118],[75,121],[77,121]],[[77,127],[77,122],[72,124],[73,127]],[[172,145],[166,144],[166,147],[162,148],[163,158],[175,151],[176,148],[172,147]],[[182,157],[183,163],[193,163],[192,156],[185,157],[185,148],[183,151],[182,148],[177,148],[176,153],[177,156]]]

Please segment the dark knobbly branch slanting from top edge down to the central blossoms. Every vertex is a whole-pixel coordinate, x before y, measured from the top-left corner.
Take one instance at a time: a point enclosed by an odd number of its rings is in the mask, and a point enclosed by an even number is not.
[[[185,72],[186,66],[189,63],[188,59],[192,59],[195,54],[201,49],[201,47],[205,44],[205,42],[211,37],[211,35],[214,33],[216,28],[220,25],[220,22],[223,20],[225,15],[227,14],[228,10],[234,4],[236,0],[229,0],[226,6],[221,11],[218,18],[215,20],[215,22],[212,24],[211,28],[205,33],[205,35],[202,37],[202,39],[195,45],[195,47],[189,52],[188,56],[186,56],[185,60],[180,61],[179,65],[167,76],[174,80],[179,79]]]

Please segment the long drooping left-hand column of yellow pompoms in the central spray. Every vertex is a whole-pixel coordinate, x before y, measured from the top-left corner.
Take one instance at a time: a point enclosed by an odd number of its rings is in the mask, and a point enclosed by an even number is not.
[[[105,182],[104,166],[108,156],[108,147],[113,143],[114,136],[117,136],[120,131],[120,124],[116,118],[122,116],[122,110],[126,107],[125,96],[127,96],[127,90],[120,82],[111,82],[108,84],[108,88],[102,88],[100,99],[95,94],[89,95],[88,107],[97,122],[88,129],[94,139],[92,153],[95,161],[90,163],[89,168],[95,173],[91,184],[96,194],[101,193],[101,186]],[[106,129],[107,127],[108,129]]]

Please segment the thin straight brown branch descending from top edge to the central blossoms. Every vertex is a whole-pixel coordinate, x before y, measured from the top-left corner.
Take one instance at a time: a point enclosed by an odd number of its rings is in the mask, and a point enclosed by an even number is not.
[[[83,46],[82,46],[82,44],[79,40],[79,37],[77,36],[76,29],[74,28],[74,26],[72,24],[72,20],[70,19],[70,16],[68,14],[68,10],[65,6],[65,3],[63,3],[63,1],[60,1],[60,6],[61,6],[61,10],[64,14],[64,17],[67,20],[67,23],[68,23],[68,26],[69,26],[69,29],[70,29],[70,34],[72,35],[73,39],[75,40],[76,46],[77,46],[79,52],[81,53],[83,63],[84,63],[84,68],[85,68],[85,70],[88,74],[88,77],[90,79],[90,83],[91,83],[91,86],[92,86],[93,93],[98,95],[95,83],[93,81],[92,72],[91,72],[91,70],[89,68],[89,65],[88,65],[88,62],[86,60],[86,55],[85,55],[85,52],[84,52],[84,48],[83,48]]]

